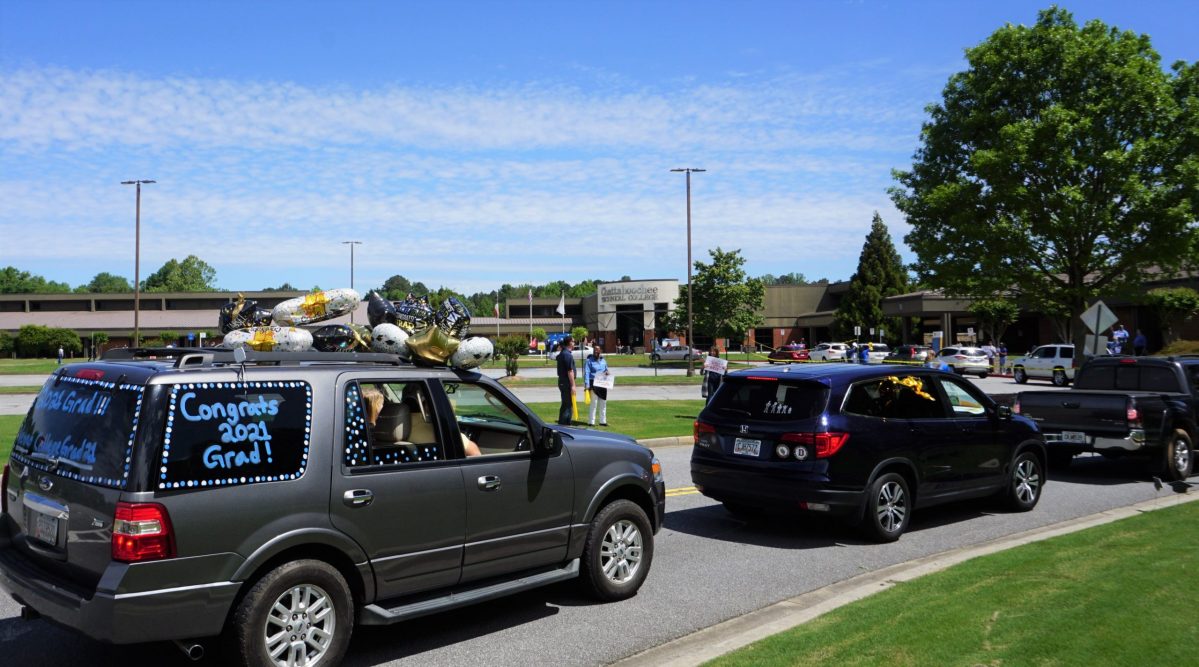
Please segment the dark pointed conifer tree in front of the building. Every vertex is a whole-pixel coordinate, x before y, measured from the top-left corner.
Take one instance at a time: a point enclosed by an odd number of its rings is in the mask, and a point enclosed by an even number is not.
[[[862,254],[857,258],[857,271],[849,280],[849,292],[837,306],[833,328],[842,337],[854,335],[854,326],[862,328],[862,337],[869,338],[869,330],[885,329],[888,338],[898,339],[899,318],[882,317],[882,299],[908,292],[908,270],[899,252],[891,241],[891,233],[882,223],[882,216],[874,212],[870,233],[866,235]]]

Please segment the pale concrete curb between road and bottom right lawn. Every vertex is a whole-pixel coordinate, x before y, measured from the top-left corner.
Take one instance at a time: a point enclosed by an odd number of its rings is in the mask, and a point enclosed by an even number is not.
[[[771,635],[777,635],[802,625],[838,607],[868,597],[880,590],[886,590],[897,583],[940,572],[980,555],[996,553],[1031,542],[1040,542],[1059,535],[1077,533],[1104,523],[1111,523],[1113,521],[1164,507],[1173,507],[1192,500],[1199,500],[1199,494],[1176,494],[1155,498],[1153,500],[1145,500],[1135,505],[1128,505],[1127,507],[1116,507],[1085,517],[1034,528],[981,545],[960,547],[909,560],[908,563],[899,563],[711,625],[665,644],[631,655],[611,665],[637,665],[638,667],[689,667],[692,665],[700,665]]]

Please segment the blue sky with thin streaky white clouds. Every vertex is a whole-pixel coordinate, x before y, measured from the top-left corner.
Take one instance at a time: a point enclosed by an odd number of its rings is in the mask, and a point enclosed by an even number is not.
[[[1048,2],[0,2],[0,266],[217,287],[848,278],[963,52]],[[1065,4],[1195,60],[1193,1]]]

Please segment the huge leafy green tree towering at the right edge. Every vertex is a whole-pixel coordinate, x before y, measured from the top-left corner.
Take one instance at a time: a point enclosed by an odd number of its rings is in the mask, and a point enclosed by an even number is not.
[[[1199,76],[1144,35],[1060,8],[966,50],[891,190],[922,282],[1008,292],[1081,338],[1095,298],[1199,247]]]

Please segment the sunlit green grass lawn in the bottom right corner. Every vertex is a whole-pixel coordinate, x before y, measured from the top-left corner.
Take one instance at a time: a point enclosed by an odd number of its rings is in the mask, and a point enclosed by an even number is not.
[[[709,662],[1194,665],[1199,503],[976,558]]]

